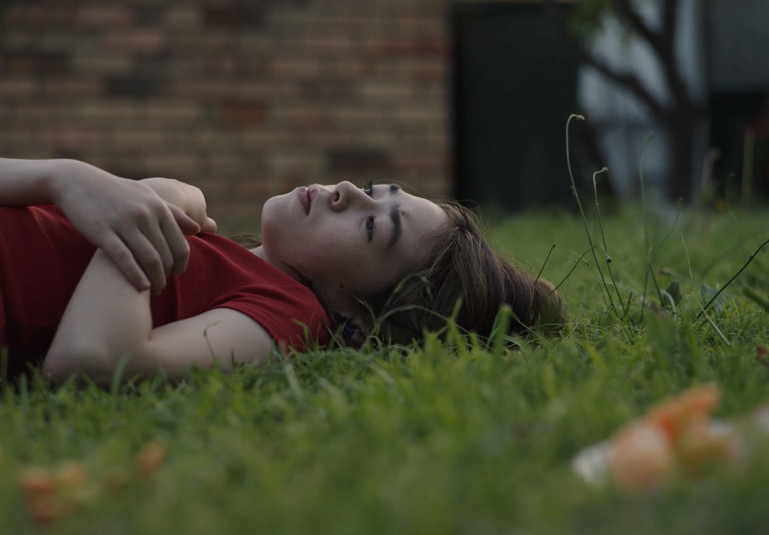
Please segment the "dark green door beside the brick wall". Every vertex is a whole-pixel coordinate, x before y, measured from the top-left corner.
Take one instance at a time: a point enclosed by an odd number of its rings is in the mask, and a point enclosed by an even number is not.
[[[453,22],[458,198],[512,209],[567,201],[577,63],[544,5],[461,3]]]

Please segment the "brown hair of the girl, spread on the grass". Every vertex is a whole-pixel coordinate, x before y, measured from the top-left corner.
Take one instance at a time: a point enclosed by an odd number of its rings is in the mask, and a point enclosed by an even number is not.
[[[412,339],[420,340],[424,330],[440,331],[460,299],[455,317],[458,327],[482,337],[491,334],[503,305],[516,318],[511,322],[511,334],[531,327],[554,331],[564,324],[564,299],[551,283],[535,279],[497,254],[468,208],[455,201],[436,204],[448,222],[425,238],[428,253],[421,268],[380,291],[358,296],[371,308],[376,321],[372,319],[369,326],[377,324],[380,337],[408,344]],[[231,240],[245,248],[261,245],[255,234],[238,234]],[[338,314],[328,310],[327,301],[312,281],[299,278],[327,309],[331,330],[335,331]]]

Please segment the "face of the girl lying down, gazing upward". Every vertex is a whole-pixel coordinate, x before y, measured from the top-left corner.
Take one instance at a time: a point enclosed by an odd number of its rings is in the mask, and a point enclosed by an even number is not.
[[[339,291],[376,291],[418,268],[422,238],[445,221],[437,204],[395,184],[302,186],[265,203],[261,257],[302,271],[331,300]]]

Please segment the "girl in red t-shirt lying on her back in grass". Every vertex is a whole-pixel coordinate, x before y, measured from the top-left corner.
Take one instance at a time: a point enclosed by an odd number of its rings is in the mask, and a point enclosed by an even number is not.
[[[561,295],[498,257],[472,214],[394,184],[301,187],[269,199],[263,243],[214,234],[198,188],[73,160],[0,159],[0,344],[8,369],[63,380],[265,364],[276,347],[360,345],[458,325],[488,336],[502,304],[559,324]],[[185,236],[185,234],[187,234]],[[549,294],[549,295],[548,295]]]

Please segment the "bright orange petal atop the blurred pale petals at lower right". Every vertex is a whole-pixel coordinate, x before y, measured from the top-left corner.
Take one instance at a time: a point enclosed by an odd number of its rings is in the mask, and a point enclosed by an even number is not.
[[[721,399],[718,387],[694,387],[652,408],[644,417],[647,424],[663,430],[674,446],[692,427],[707,426],[711,412]]]

